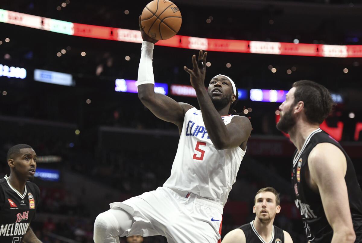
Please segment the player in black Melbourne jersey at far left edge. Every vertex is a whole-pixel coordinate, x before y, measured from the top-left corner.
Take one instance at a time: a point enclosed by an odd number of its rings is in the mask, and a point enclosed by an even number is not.
[[[37,154],[26,144],[9,149],[10,175],[0,179],[0,242],[41,243],[29,227],[35,217],[40,191],[29,182],[37,168]]]

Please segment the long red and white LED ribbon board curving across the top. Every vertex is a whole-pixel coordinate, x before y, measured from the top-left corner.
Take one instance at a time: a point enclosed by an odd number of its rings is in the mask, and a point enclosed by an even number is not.
[[[0,9],[0,22],[88,38],[134,43],[142,42],[139,30],[77,24],[3,9]],[[221,52],[322,57],[362,57],[362,45],[338,46],[265,41],[237,41],[189,37],[184,35],[175,35],[171,39],[157,42],[156,45]]]

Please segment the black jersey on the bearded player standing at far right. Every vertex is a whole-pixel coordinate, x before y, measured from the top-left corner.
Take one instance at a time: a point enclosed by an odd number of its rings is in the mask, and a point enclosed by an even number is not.
[[[308,170],[308,156],[312,149],[322,142],[336,145],[346,157],[345,182],[353,227],[357,236],[355,242],[362,243],[362,191],[358,184],[353,163],[342,146],[320,128],[307,137],[299,154],[298,150],[294,153],[292,165],[291,180],[296,196],[295,204],[303,218],[304,232],[308,240],[313,243],[330,243],[333,236],[332,227],[329,225],[324,213],[321,197],[319,193],[314,192],[308,186],[305,176],[306,170]]]

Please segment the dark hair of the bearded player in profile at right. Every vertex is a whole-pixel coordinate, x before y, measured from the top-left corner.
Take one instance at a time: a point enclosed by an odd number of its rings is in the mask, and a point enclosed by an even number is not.
[[[293,87],[296,88],[294,103],[303,101],[308,121],[321,124],[331,113],[334,105],[328,89],[310,80],[296,81]]]

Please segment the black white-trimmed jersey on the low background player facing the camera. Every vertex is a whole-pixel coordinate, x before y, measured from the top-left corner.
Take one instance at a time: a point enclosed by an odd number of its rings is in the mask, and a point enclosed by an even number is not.
[[[239,227],[242,229],[245,234],[246,243],[284,243],[284,232],[282,229],[273,225],[273,232],[271,233],[271,239],[269,242],[266,242],[261,236],[258,234],[254,227],[254,221],[247,223],[246,225],[242,225]]]

